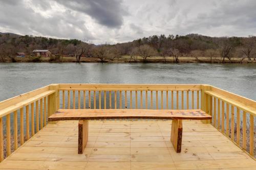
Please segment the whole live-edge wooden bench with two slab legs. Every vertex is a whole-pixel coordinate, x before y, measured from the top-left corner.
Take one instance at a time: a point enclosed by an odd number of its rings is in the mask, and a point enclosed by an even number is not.
[[[181,152],[182,119],[211,119],[202,110],[149,110],[149,109],[59,109],[49,116],[49,121],[79,120],[78,154],[82,154],[88,141],[90,119],[173,119],[170,141],[177,153]]]

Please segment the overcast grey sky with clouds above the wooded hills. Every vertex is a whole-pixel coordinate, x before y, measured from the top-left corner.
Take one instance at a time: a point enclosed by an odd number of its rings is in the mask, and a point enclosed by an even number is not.
[[[255,0],[0,0],[0,32],[117,43],[160,34],[256,35]]]

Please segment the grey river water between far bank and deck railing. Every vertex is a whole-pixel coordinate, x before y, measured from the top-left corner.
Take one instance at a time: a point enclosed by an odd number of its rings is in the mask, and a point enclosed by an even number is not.
[[[210,84],[256,100],[256,65],[0,63],[0,101],[52,83]]]

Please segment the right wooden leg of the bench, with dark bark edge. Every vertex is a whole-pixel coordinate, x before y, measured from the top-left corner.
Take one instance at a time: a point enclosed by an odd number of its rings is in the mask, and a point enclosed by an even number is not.
[[[170,133],[170,141],[173,143],[174,149],[177,153],[181,152],[182,140],[182,120],[173,119],[172,132]]]

